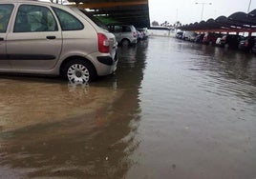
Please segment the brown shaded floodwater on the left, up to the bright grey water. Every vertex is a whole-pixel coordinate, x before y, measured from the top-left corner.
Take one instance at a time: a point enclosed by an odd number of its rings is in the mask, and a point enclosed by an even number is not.
[[[0,178],[123,178],[139,145],[138,50],[120,49],[117,74],[90,85],[3,77]]]

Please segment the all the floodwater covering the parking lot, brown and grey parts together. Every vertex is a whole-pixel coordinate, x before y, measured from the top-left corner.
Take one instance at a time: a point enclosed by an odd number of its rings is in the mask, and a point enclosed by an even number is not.
[[[0,178],[256,178],[256,55],[165,37],[118,54],[89,86],[0,76]]]

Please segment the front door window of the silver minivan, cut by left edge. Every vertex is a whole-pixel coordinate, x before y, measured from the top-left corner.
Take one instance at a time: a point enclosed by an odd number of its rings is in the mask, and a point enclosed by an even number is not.
[[[6,32],[12,10],[13,5],[0,5],[0,33]]]

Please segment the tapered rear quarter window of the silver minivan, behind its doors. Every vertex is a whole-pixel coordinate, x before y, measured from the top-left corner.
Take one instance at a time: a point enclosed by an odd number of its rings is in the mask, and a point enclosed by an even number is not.
[[[67,11],[53,8],[62,30],[83,30],[83,24]]]

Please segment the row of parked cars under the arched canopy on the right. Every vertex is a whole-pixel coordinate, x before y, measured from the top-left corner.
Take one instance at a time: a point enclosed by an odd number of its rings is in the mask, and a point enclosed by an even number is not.
[[[206,32],[198,34],[194,31],[178,31],[176,38],[202,43],[206,45],[216,45],[224,48],[245,50],[256,53],[256,36],[243,36],[238,34],[223,34]]]

